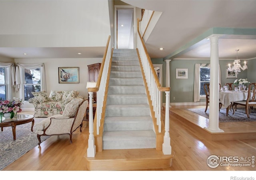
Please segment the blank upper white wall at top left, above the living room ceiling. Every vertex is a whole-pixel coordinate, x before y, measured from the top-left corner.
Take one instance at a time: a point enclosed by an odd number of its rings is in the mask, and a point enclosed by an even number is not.
[[[106,46],[106,0],[0,0],[0,47]]]

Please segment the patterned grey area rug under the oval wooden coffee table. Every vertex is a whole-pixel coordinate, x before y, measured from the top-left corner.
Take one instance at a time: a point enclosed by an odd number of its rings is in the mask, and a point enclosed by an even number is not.
[[[34,128],[44,118],[34,118]],[[4,127],[0,131],[0,170],[20,158],[29,150],[38,146],[37,134],[31,132],[32,122],[16,126],[16,140],[13,140],[12,128]],[[33,128],[33,129],[34,129]],[[42,142],[48,136],[42,136]]]

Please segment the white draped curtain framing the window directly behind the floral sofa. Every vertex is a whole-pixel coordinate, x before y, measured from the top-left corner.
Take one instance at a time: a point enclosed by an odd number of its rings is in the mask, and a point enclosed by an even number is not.
[[[45,77],[45,68],[44,68],[44,63],[41,64],[16,64],[16,91],[20,88],[20,68],[24,69],[36,69],[40,68],[41,69],[41,91],[46,90],[46,77]]]

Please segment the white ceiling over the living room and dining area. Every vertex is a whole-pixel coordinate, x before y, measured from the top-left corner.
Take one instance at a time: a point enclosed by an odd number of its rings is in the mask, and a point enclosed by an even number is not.
[[[210,58],[210,41],[206,39],[196,41],[209,29],[214,27],[256,29],[256,0],[122,1],[139,8],[162,12],[146,40],[151,58]],[[128,20],[130,21],[129,18]],[[194,42],[194,45],[191,42]],[[164,50],[161,51],[159,48]],[[239,49],[239,59],[256,58],[256,32],[250,36],[220,35],[220,59],[235,59],[236,49]],[[81,54],[77,54],[78,52]],[[0,47],[0,56],[10,58],[102,58],[103,52],[104,47]]]

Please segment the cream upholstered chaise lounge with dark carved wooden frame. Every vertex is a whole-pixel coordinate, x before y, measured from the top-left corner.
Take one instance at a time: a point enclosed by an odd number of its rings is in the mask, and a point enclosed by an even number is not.
[[[88,100],[77,98],[72,105],[68,104],[63,114],[56,114],[45,118],[35,126],[38,145],[41,144],[41,136],[53,136],[69,134],[72,143],[72,133],[80,126],[82,132],[82,120],[85,116]]]

